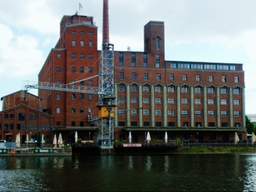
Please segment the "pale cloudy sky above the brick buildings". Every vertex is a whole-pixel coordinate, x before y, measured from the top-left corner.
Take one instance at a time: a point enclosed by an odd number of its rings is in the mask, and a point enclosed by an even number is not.
[[[62,16],[79,12],[79,2],[80,15],[94,17],[101,50],[103,0],[0,1],[0,97],[23,90],[23,80],[38,80]],[[243,63],[246,113],[256,113],[256,1],[109,0],[116,51],[143,51],[149,21],[165,22],[165,60]]]

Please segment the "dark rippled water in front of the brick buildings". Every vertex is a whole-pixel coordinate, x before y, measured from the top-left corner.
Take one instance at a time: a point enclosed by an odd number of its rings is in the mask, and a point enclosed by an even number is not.
[[[256,191],[256,154],[0,157],[0,191]]]

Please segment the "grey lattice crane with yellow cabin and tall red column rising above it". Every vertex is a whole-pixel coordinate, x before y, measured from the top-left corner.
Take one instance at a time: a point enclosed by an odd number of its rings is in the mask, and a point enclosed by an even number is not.
[[[26,90],[30,88],[44,89],[44,90],[56,90],[56,91],[69,91],[74,93],[88,93],[98,94],[99,100],[95,104],[98,107],[98,116],[93,118],[91,112],[88,112],[88,121],[98,125],[99,136],[94,139],[94,143],[101,149],[113,148],[114,140],[114,108],[117,106],[115,103],[114,82],[113,82],[113,57],[114,57],[114,45],[109,43],[109,26],[108,26],[108,0],[103,2],[103,35],[102,35],[102,51],[101,51],[101,63],[99,66],[99,75],[88,77],[91,79],[99,77],[99,87],[86,87],[71,84],[55,84],[49,82],[29,82],[26,81],[24,87]],[[82,80],[87,80],[82,79]],[[77,81],[80,82],[81,80]]]

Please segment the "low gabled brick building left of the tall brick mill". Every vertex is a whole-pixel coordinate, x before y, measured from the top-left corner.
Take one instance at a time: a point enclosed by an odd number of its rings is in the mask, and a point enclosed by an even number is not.
[[[46,143],[52,143],[53,116],[40,110],[41,98],[26,91],[17,91],[1,98],[0,140],[15,141],[20,133],[21,143],[37,140],[40,131]]]

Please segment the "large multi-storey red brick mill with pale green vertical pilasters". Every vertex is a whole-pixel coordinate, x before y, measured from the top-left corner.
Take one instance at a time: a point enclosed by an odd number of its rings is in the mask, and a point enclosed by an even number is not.
[[[115,138],[144,143],[151,140],[232,142],[235,132],[247,140],[243,65],[238,63],[182,62],[165,60],[165,26],[150,21],[144,26],[144,50],[115,51]],[[39,82],[55,85],[98,87],[98,27],[93,17],[63,16],[60,39],[38,75]],[[98,94],[38,90],[41,108],[54,116],[52,129],[66,141],[79,132],[93,140],[98,115]],[[88,113],[89,112],[89,113]]]

